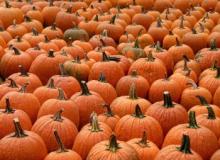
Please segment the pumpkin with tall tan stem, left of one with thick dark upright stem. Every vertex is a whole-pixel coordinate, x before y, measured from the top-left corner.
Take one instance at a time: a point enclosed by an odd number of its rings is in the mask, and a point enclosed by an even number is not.
[[[136,86],[132,83],[128,96],[117,97],[113,100],[110,107],[115,114],[119,117],[123,117],[127,114],[134,113],[137,104],[139,104],[143,112],[151,105],[148,100],[137,96]]]

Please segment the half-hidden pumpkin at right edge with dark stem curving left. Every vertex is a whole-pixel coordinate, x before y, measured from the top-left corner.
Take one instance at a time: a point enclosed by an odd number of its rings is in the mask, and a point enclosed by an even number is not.
[[[199,105],[195,105],[192,108],[189,109],[190,111],[195,111],[196,112],[196,116],[200,115],[200,114],[207,114],[208,110],[206,109],[206,107],[212,107],[212,109],[214,110],[215,114],[217,116],[220,116],[220,109],[218,106],[213,105],[213,104],[209,104],[206,99],[202,96],[196,96],[199,101],[200,104]]]

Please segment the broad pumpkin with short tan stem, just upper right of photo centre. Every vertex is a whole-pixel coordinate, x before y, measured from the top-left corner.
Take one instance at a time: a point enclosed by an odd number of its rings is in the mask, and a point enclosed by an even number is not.
[[[148,53],[147,58],[140,58],[132,63],[129,68],[129,74],[136,70],[137,73],[148,80],[149,84],[152,84],[157,79],[164,78],[166,73],[166,67],[164,63],[153,57],[152,53]]]

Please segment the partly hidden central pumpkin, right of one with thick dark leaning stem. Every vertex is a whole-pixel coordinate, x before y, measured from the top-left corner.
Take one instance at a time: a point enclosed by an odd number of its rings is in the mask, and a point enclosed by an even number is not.
[[[106,81],[105,75],[100,74],[99,80],[91,80],[87,83],[89,90],[101,95],[108,104],[117,98],[115,88]]]

